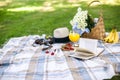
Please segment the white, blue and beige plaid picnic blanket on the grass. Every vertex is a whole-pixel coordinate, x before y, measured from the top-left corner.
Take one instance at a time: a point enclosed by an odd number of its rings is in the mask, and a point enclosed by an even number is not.
[[[40,38],[29,35],[11,38],[0,50],[0,80],[103,80],[115,75],[112,64],[120,63],[120,44],[104,44],[98,57],[80,60],[61,51],[61,44],[54,44],[49,54],[44,46],[32,46]],[[51,55],[54,49],[59,49]]]

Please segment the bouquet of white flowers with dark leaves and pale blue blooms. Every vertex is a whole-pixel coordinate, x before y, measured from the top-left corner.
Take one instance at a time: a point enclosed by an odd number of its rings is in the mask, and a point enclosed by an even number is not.
[[[80,7],[73,19],[70,21],[70,24],[72,25],[72,29],[80,35],[84,32],[89,33],[94,27],[94,22],[90,15],[88,15],[88,11],[83,11]]]

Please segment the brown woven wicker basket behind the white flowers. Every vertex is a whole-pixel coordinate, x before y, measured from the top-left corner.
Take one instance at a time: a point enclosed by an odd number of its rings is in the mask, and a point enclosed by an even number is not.
[[[94,3],[91,2],[89,4],[89,6]],[[98,19],[98,22],[97,24],[95,25],[95,27],[93,27],[91,29],[91,32],[90,33],[83,33],[81,35],[81,37],[83,38],[92,38],[92,39],[99,39],[99,40],[103,40],[105,38],[105,27],[104,27],[104,20],[103,20],[103,15],[102,15],[102,12],[100,12],[100,17]]]

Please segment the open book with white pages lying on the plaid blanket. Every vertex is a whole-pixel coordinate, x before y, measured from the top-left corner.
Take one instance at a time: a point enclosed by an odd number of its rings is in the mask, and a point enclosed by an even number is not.
[[[79,47],[75,49],[74,54],[69,56],[80,58],[80,59],[90,59],[98,56],[104,48],[97,47],[98,40],[81,38],[79,41]]]

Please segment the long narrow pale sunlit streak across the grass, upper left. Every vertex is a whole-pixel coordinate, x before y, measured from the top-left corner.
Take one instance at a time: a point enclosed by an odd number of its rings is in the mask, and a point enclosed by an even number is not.
[[[20,12],[20,11],[41,11],[41,12],[51,12],[51,11],[55,11],[56,9],[54,8],[54,6],[49,5],[51,3],[47,3],[47,5],[44,6],[24,6],[24,7],[18,7],[18,8],[11,8],[11,9],[7,9],[7,11],[12,11],[12,12]],[[57,5],[55,5],[55,7],[57,8],[70,8],[70,7],[75,7],[75,6],[80,6],[80,4],[62,4],[59,3]]]

